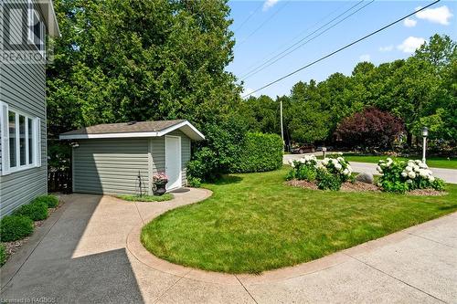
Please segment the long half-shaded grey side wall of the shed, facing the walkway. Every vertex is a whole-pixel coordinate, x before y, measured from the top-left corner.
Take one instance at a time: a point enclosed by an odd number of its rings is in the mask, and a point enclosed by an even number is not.
[[[137,194],[138,172],[148,190],[148,139],[79,140],[73,148],[73,191]]]

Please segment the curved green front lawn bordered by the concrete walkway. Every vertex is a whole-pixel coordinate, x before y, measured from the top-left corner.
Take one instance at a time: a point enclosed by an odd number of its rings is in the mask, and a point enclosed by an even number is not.
[[[176,264],[228,273],[292,266],[457,210],[449,194],[423,197],[313,191],[284,184],[288,167],[235,174],[207,200],[160,215],[142,243]]]

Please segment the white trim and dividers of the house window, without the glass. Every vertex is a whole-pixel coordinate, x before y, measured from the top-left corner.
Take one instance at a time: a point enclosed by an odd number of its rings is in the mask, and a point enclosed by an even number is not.
[[[16,110],[14,108],[11,108],[8,106],[7,103],[0,101],[0,109],[6,109],[6,115],[1,112],[2,114],[2,119],[5,117],[6,121],[2,121],[2,131],[0,133],[0,141],[2,141],[2,172],[1,175],[7,175],[10,173],[16,173],[36,167],[41,167],[41,147],[40,147],[40,142],[41,142],[41,126],[40,122],[41,120],[37,117],[33,117],[28,115],[27,113],[21,111],[21,110]],[[10,155],[9,155],[9,124],[8,124],[8,119],[9,119],[9,112],[14,112],[15,113],[15,122],[16,122],[16,165],[14,167],[11,166],[10,163]],[[25,142],[26,142],[26,151],[25,151],[25,157],[26,157],[26,164],[21,165],[20,164],[20,131],[19,131],[19,115],[23,116],[25,118]],[[34,141],[32,142],[32,157],[33,157],[33,162],[28,163],[29,157],[28,157],[28,120],[31,119],[32,123],[34,126],[32,127],[32,132],[34,133]],[[7,164],[7,165],[5,165]]]

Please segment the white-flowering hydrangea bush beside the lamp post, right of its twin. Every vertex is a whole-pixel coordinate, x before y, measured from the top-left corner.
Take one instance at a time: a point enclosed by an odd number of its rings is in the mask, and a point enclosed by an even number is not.
[[[378,185],[386,192],[405,193],[415,189],[443,190],[444,182],[433,176],[425,162],[420,160],[394,161],[388,158],[377,163],[381,173]]]

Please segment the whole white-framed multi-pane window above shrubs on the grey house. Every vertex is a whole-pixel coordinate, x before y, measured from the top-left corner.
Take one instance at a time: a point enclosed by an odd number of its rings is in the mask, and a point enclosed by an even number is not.
[[[32,167],[40,162],[40,119],[0,102],[0,135],[3,175]]]

